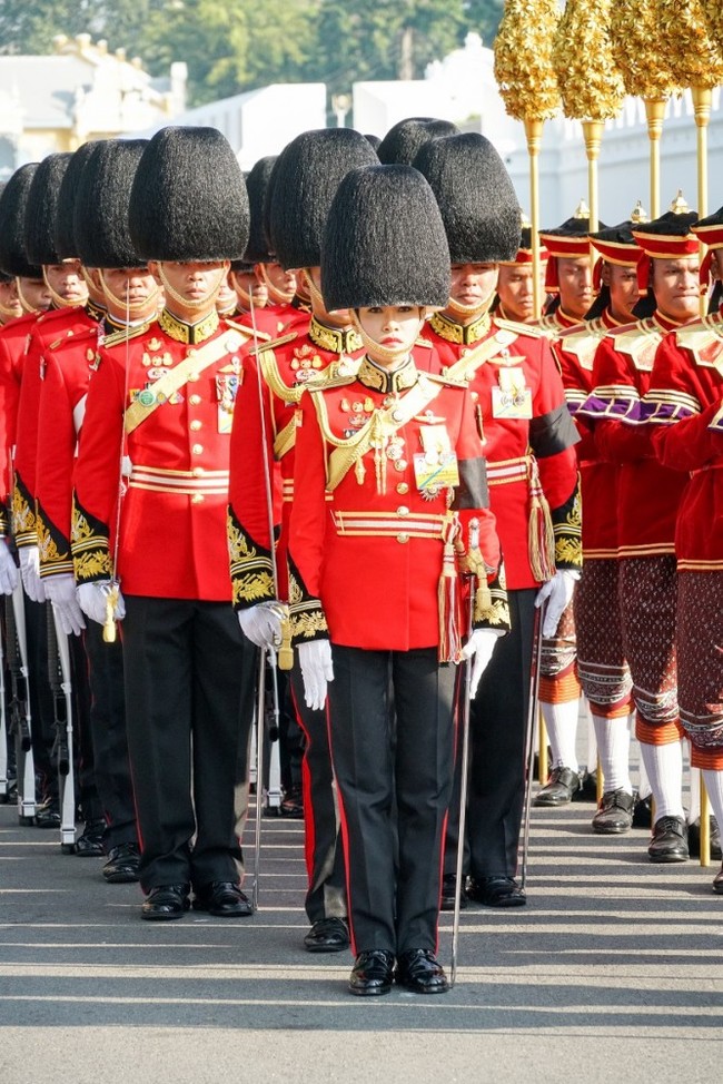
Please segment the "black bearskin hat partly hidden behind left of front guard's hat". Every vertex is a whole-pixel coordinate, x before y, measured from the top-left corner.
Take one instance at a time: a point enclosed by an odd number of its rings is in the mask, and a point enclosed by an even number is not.
[[[287,144],[274,167],[269,213],[271,249],[283,267],[318,267],[324,227],[341,179],[350,169],[378,164],[354,128],[317,128]]]

